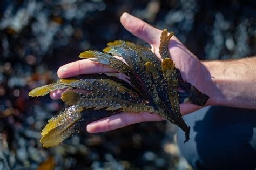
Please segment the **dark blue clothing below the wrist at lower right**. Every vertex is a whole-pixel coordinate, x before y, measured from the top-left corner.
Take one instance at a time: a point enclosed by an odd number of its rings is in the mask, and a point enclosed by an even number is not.
[[[190,140],[179,129],[178,146],[195,169],[256,169],[256,110],[212,106],[184,120]]]

